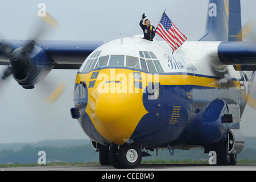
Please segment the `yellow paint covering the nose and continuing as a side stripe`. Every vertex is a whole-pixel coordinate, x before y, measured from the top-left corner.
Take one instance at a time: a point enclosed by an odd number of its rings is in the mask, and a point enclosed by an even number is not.
[[[190,75],[151,75],[130,69],[101,69],[96,79],[90,79],[93,72],[78,74],[76,84],[96,80],[93,88],[88,88],[86,113],[94,127],[110,142],[122,145],[133,134],[139,121],[148,111],[142,101],[143,90],[148,82],[160,82],[161,85],[198,85],[221,88],[220,80]],[[142,89],[135,88],[133,73],[141,74]],[[240,89],[239,81],[233,81],[233,87]],[[179,113],[178,113],[179,114]],[[178,118],[175,117],[176,119]],[[170,121],[175,123],[174,121]]]

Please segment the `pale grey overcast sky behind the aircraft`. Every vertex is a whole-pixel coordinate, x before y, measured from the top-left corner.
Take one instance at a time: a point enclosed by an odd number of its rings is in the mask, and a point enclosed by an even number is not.
[[[255,0],[242,1],[242,24],[255,18]],[[46,11],[54,16],[61,28],[44,39],[48,40],[113,40],[123,36],[142,34],[139,20],[145,13],[156,26],[166,14],[188,40],[198,40],[205,32],[208,0],[167,1],[82,1],[82,0],[0,0],[0,36],[5,39],[27,39],[36,30],[38,4],[46,4]],[[246,3],[245,3],[246,2]],[[159,36],[156,39],[162,40]],[[5,67],[0,67],[0,70]],[[11,77],[0,88],[0,143],[38,142],[46,139],[86,139],[69,109],[73,107],[73,86],[77,70],[52,71],[46,81],[35,89],[22,89]],[[67,89],[51,106],[44,98],[61,82]],[[47,85],[51,85],[48,86]],[[256,93],[256,92],[255,92]],[[241,121],[245,136],[255,136],[256,111],[246,108]]]

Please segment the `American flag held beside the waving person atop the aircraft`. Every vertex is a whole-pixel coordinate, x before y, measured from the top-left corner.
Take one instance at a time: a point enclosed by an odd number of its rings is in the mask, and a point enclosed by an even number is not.
[[[166,13],[163,13],[162,19],[160,20],[156,29],[156,34],[160,35],[160,37],[166,40],[166,42],[172,48],[172,52],[174,52],[185,42],[185,40],[187,40],[185,35],[183,35],[177,29]]]

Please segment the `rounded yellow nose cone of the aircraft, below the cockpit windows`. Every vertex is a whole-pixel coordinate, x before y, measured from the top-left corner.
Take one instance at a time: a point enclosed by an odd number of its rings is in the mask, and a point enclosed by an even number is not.
[[[86,110],[102,137],[121,145],[131,137],[147,111],[142,102],[142,93],[135,93],[131,88],[127,89],[127,93],[119,93],[117,84],[120,83],[110,86],[114,93],[99,93],[97,88],[94,89]]]

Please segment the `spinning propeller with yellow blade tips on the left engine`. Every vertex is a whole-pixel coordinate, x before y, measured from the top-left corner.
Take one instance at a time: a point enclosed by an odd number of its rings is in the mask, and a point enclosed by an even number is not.
[[[36,34],[32,39],[29,39],[23,47],[14,48],[5,40],[2,40],[0,43],[0,53],[7,60],[9,60],[10,63],[10,66],[7,66],[7,68],[2,73],[0,73],[0,82],[6,81],[10,75],[13,75],[19,80],[23,80],[29,75],[28,72],[37,72],[36,64],[31,61],[31,52],[34,49],[36,42],[38,42],[39,38],[49,31],[49,26],[46,26],[46,23],[49,24],[55,31],[57,31],[60,27],[59,22],[57,22],[53,16],[46,12],[45,14],[46,16],[39,16],[44,21],[40,22],[38,26],[35,26],[38,28],[37,31],[34,31]],[[25,87],[23,86],[23,88]],[[34,85],[26,89],[32,88],[34,88]],[[57,89],[52,92],[52,94],[45,100],[44,103],[51,105],[57,100],[57,98],[61,96],[65,88],[66,85],[64,82],[61,82],[59,86],[57,86]]]

